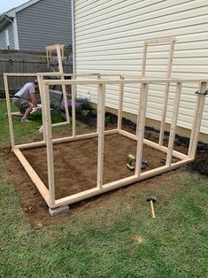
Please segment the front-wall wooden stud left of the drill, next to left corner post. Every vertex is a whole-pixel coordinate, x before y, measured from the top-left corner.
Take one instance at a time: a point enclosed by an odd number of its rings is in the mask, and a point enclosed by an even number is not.
[[[104,175],[104,101],[105,85],[98,85],[97,99],[97,132],[98,132],[98,153],[97,153],[97,188],[102,189]]]

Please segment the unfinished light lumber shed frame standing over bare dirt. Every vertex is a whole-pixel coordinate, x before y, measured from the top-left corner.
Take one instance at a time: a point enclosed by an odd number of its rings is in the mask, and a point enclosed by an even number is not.
[[[174,42],[174,40],[173,40]],[[146,42],[146,46],[148,43]],[[145,42],[144,42],[145,45]],[[173,50],[173,43],[171,44],[171,49]],[[145,47],[146,47],[145,46]],[[144,48],[145,51],[145,48]],[[145,57],[145,53],[144,53]],[[173,57],[172,57],[173,58]],[[172,58],[169,58],[169,69],[172,66]],[[144,76],[145,72],[145,58],[143,62],[143,76],[142,78],[137,78],[135,76],[127,76],[120,74],[67,74],[67,73],[36,73],[41,89],[42,97],[42,125],[43,125],[43,140],[41,142],[35,143],[23,143],[15,144],[13,136],[13,127],[12,127],[12,112],[10,105],[9,89],[8,89],[8,76],[29,76],[28,73],[4,73],[4,85],[7,101],[7,109],[9,116],[9,125],[10,125],[10,134],[12,142],[12,151],[19,159],[21,165],[25,168],[27,174],[31,180],[35,183],[36,188],[39,190],[46,204],[50,209],[56,209],[64,207],[65,205],[70,205],[75,202],[81,201],[83,199],[94,197],[96,195],[102,194],[112,189],[117,189],[122,186],[126,186],[130,183],[137,181],[142,181],[153,177],[158,174],[163,174],[173,169],[176,169],[180,166],[188,164],[193,161],[196,155],[196,147],[198,141],[198,135],[201,126],[202,115],[204,111],[204,102],[205,102],[205,92],[207,90],[207,80],[204,79],[173,79],[168,76],[164,79],[153,79],[146,78]],[[34,74],[30,73],[34,76]],[[45,80],[44,76],[49,75],[58,75],[63,77],[61,80]],[[65,80],[64,76],[72,76],[72,80]],[[95,75],[97,79],[95,79]],[[83,76],[85,79],[80,79]],[[94,76],[94,78],[92,78]],[[79,77],[79,79],[78,79]],[[116,77],[116,78],[115,78]],[[174,139],[177,127],[177,119],[179,112],[179,104],[181,97],[181,88],[182,83],[198,83],[198,91],[196,92],[196,107],[193,117],[191,135],[189,140],[189,151],[188,154],[183,154],[179,151],[173,150]],[[173,104],[173,116],[170,127],[170,135],[168,140],[168,146],[163,145],[163,135],[164,135],[164,126],[166,117],[162,117],[159,143],[151,142],[148,139],[144,139],[144,128],[145,128],[145,118],[146,118],[146,109],[147,109],[147,100],[148,100],[148,91],[150,84],[165,84],[166,92],[168,94],[170,84],[175,85],[175,97]],[[76,135],[76,122],[75,122],[75,86],[76,85],[96,85],[97,86],[97,129],[96,132],[85,134],[85,135]],[[135,135],[122,129],[122,112],[123,112],[123,97],[124,97],[124,88],[125,85],[134,84],[138,86],[138,92],[140,91],[140,101],[138,105],[137,121],[136,121],[136,133]],[[62,137],[62,138],[52,138],[51,131],[51,118],[50,118],[50,86],[61,85],[72,87],[72,125],[73,125],[73,135]],[[119,86],[119,107],[118,107],[118,125],[117,128],[112,130],[104,130],[104,112],[105,112],[105,87],[106,85],[117,85]],[[194,92],[193,92],[194,93]],[[167,97],[168,99],[168,97]],[[167,105],[167,100],[165,102]],[[166,107],[164,106],[164,111],[166,112]],[[135,165],[135,174],[130,177],[122,178],[117,181],[112,181],[104,184],[104,135],[119,134],[127,136],[128,138],[136,141],[136,165]],[[57,143],[67,143],[78,140],[83,140],[87,138],[98,137],[98,151],[97,151],[97,181],[96,187],[88,190],[81,191],[79,193],[73,194],[71,196],[62,197],[56,199],[55,194],[55,181],[54,181],[54,158],[53,158],[53,145]],[[141,171],[141,163],[143,158],[143,144],[150,146],[153,149],[162,151],[166,153],[166,165],[159,166],[155,169],[147,170],[145,172]],[[27,158],[24,157],[22,151],[26,149],[33,149],[37,147],[46,147],[47,151],[47,167],[48,167],[48,184],[49,188],[42,182],[41,178],[33,167],[28,163]],[[173,157],[178,158],[179,161],[173,162]],[[70,170],[70,169],[69,169]]]

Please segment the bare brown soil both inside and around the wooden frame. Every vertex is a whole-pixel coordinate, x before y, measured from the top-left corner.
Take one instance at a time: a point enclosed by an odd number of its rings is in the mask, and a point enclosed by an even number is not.
[[[135,141],[125,136],[105,136],[104,183],[116,181],[134,174],[134,171],[131,172],[127,169],[127,154],[135,154],[135,148]],[[185,153],[187,151],[187,149],[181,145],[175,149]],[[15,185],[22,210],[33,227],[41,228],[42,225],[57,223],[69,217],[69,213],[58,215],[58,217],[50,217],[48,206],[45,204],[33,182],[27,176],[24,168],[20,165],[19,160],[9,148],[1,149],[0,152],[5,158],[8,178]],[[28,162],[34,167],[36,173],[41,177],[42,181],[48,186],[46,149],[44,147],[35,148],[23,151],[23,153]],[[144,145],[143,158],[146,158],[150,163],[150,166],[143,170],[147,171],[158,166],[163,166],[166,154]],[[200,158],[202,158],[202,154],[200,154]],[[207,159],[207,155],[203,154],[203,158]],[[96,163],[97,138],[54,145],[56,198],[66,197],[96,187]],[[72,215],[74,211],[86,210],[94,205],[96,207],[104,204],[113,205],[119,195],[122,194],[120,192],[124,192],[122,190],[141,190],[143,184],[145,184],[146,187],[148,186],[149,189],[154,189],[155,183],[162,182],[164,175],[169,174],[170,173],[163,174],[148,181],[136,183],[131,187],[113,190],[102,196],[92,197],[89,198],[89,200],[73,204],[70,206],[70,215]],[[171,182],[169,182],[168,187],[171,189],[172,186]],[[154,192],[156,192],[155,189]]]

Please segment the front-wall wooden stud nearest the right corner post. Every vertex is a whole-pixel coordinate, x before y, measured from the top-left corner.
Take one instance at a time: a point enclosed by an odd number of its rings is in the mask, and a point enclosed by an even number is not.
[[[176,85],[176,92],[175,92],[175,97],[174,97],[172,123],[171,123],[169,142],[168,142],[168,150],[167,150],[167,156],[166,156],[166,166],[171,166],[171,163],[172,163],[174,138],[175,138],[180,97],[181,97],[181,88],[182,88],[182,84],[181,84],[181,82],[178,82]]]

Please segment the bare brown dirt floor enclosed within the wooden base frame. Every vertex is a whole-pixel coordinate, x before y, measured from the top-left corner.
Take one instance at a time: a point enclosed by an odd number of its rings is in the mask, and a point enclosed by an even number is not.
[[[96,187],[97,138],[54,145],[54,172],[56,198],[66,197]],[[135,154],[136,142],[122,135],[106,135],[104,140],[104,183],[133,175],[127,169],[128,153]],[[46,148],[23,151],[35,172],[48,186]],[[150,166],[146,170],[163,166],[166,155],[148,146],[143,157]]]

